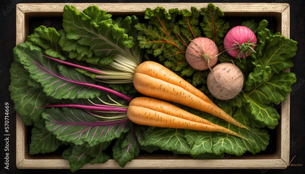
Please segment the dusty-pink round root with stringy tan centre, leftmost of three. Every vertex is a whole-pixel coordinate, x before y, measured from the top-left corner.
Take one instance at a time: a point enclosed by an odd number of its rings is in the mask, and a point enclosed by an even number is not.
[[[192,68],[206,70],[213,67],[218,60],[217,45],[209,38],[193,39],[185,52],[186,61]]]

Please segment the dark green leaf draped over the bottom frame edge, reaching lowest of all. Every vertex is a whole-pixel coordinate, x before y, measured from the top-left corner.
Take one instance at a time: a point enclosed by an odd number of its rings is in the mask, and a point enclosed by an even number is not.
[[[103,142],[89,148],[86,145],[72,144],[63,152],[62,157],[69,161],[71,172],[75,172],[89,162],[100,164],[108,161],[110,156],[103,151],[110,143],[111,141]]]

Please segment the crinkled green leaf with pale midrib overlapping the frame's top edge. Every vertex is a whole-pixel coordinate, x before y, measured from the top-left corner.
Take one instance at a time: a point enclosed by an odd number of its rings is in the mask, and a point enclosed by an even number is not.
[[[112,23],[110,17],[110,14],[94,5],[83,12],[78,12],[74,6],[65,5],[63,27],[66,37],[90,46],[99,57],[124,54],[135,43],[132,37],[124,33],[123,28]]]

